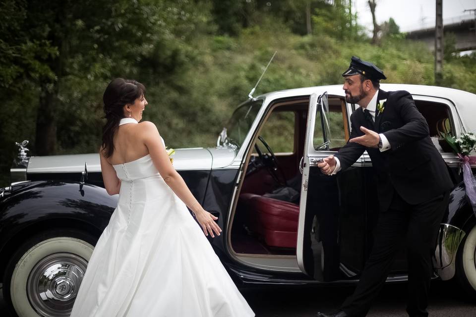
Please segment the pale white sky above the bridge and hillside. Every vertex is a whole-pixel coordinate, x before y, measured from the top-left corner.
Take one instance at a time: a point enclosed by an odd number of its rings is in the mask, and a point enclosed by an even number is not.
[[[435,0],[376,0],[375,15],[377,23],[388,21],[392,17],[400,26],[401,32],[409,32],[435,25]],[[357,10],[358,23],[369,31],[373,30],[372,14],[367,0],[353,0],[353,11]],[[474,19],[474,12],[463,12],[475,9],[476,0],[443,0],[443,24],[459,22],[463,19]]]

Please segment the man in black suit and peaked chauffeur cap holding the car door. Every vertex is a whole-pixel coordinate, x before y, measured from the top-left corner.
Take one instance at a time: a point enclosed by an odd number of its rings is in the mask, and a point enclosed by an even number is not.
[[[428,124],[406,91],[385,92],[386,79],[374,64],[353,56],[343,74],[346,101],[360,107],[351,115],[349,142],[318,166],[334,175],[366,150],[377,176],[379,218],[374,244],[357,288],[334,314],[365,316],[381,290],[399,242],[407,245],[409,316],[428,316],[428,291],[439,223],[453,187],[447,166],[429,137]]]

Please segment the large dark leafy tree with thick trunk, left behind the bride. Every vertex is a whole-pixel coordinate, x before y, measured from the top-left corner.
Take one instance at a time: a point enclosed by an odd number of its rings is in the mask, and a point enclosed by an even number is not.
[[[1,33],[7,53],[0,63],[9,66],[0,76],[10,91],[28,82],[38,91],[36,155],[57,151],[58,117],[67,95],[61,85],[94,85],[126,74],[172,76],[194,54],[187,44],[192,34],[208,23],[200,7],[190,0],[4,2],[0,10],[15,19],[0,24],[7,31]]]

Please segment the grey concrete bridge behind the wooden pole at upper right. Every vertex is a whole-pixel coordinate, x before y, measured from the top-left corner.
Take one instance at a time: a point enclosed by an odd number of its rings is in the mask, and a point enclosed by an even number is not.
[[[456,50],[459,52],[476,50],[475,19],[461,20],[451,24],[444,24],[443,32],[456,37]],[[435,27],[407,32],[407,39],[425,42],[431,51],[435,49]]]

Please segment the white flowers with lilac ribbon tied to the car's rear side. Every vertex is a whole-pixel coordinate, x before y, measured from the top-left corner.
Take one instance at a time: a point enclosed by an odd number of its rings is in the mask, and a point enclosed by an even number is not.
[[[476,164],[476,157],[470,157],[470,153],[476,149],[476,135],[473,132],[461,133],[459,138],[445,135],[453,151],[458,155],[463,167],[463,179],[465,181],[466,195],[473,205],[476,214],[476,181],[470,164]]]

